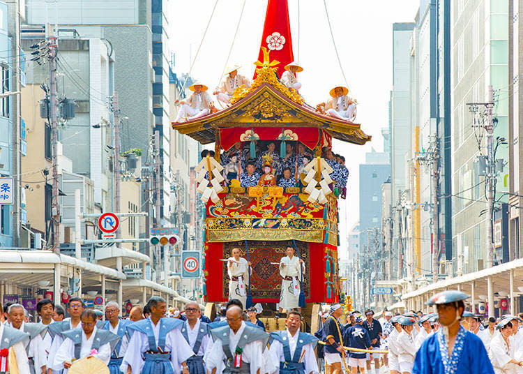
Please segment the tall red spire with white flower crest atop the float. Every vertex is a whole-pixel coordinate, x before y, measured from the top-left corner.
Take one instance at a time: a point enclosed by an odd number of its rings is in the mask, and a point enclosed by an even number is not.
[[[287,0],[268,0],[258,61],[264,61],[261,47],[266,47],[271,52],[271,61],[280,61],[276,68],[278,68],[278,76],[281,77],[285,71],[285,65],[294,61]]]

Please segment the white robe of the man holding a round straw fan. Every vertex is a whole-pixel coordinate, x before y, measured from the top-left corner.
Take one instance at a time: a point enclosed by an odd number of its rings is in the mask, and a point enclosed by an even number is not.
[[[89,339],[84,333],[84,330],[82,329],[82,347],[80,348],[80,359],[84,359],[85,357],[88,357],[91,355],[91,347],[93,347],[94,342],[94,336],[96,335],[97,328],[94,327],[93,332],[91,333],[91,336],[89,336]],[[105,362],[105,364],[109,364],[109,359],[111,358],[111,345],[109,343],[105,343],[100,346],[98,349],[97,354],[93,354],[93,357],[96,357],[102,361]],[[58,352],[56,352],[56,355],[54,356],[54,362],[53,362],[53,370],[59,370],[63,369],[63,363],[68,361],[72,362],[75,358],[75,343],[70,340],[70,338],[66,338],[63,343],[61,343],[60,348]],[[67,369],[63,369],[63,374],[67,373]]]

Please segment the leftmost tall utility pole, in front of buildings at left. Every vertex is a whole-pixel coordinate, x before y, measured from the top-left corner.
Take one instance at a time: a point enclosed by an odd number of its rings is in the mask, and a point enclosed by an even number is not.
[[[52,220],[53,220],[53,249],[55,253],[60,253],[60,206],[58,204],[58,114],[56,99],[56,55],[58,45],[56,36],[49,31],[47,37],[49,45],[49,109],[51,119],[51,144],[52,144]]]

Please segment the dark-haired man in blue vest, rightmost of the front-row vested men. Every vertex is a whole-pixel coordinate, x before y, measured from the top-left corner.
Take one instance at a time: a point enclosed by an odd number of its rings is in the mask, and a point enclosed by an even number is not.
[[[319,373],[314,354],[318,338],[300,331],[301,313],[291,311],[285,320],[287,329],[271,333],[270,352],[273,360],[280,362],[275,374]]]

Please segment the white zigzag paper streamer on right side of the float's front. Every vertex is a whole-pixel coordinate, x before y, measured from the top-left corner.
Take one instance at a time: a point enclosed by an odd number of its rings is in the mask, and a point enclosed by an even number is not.
[[[305,172],[307,172],[307,175],[303,179],[303,183],[307,185],[305,193],[310,194],[307,200],[326,204],[326,195],[333,192],[331,187],[328,186],[333,183],[333,180],[328,175],[333,172],[332,167],[328,165],[324,158],[317,157],[316,160],[312,160],[305,166]]]

